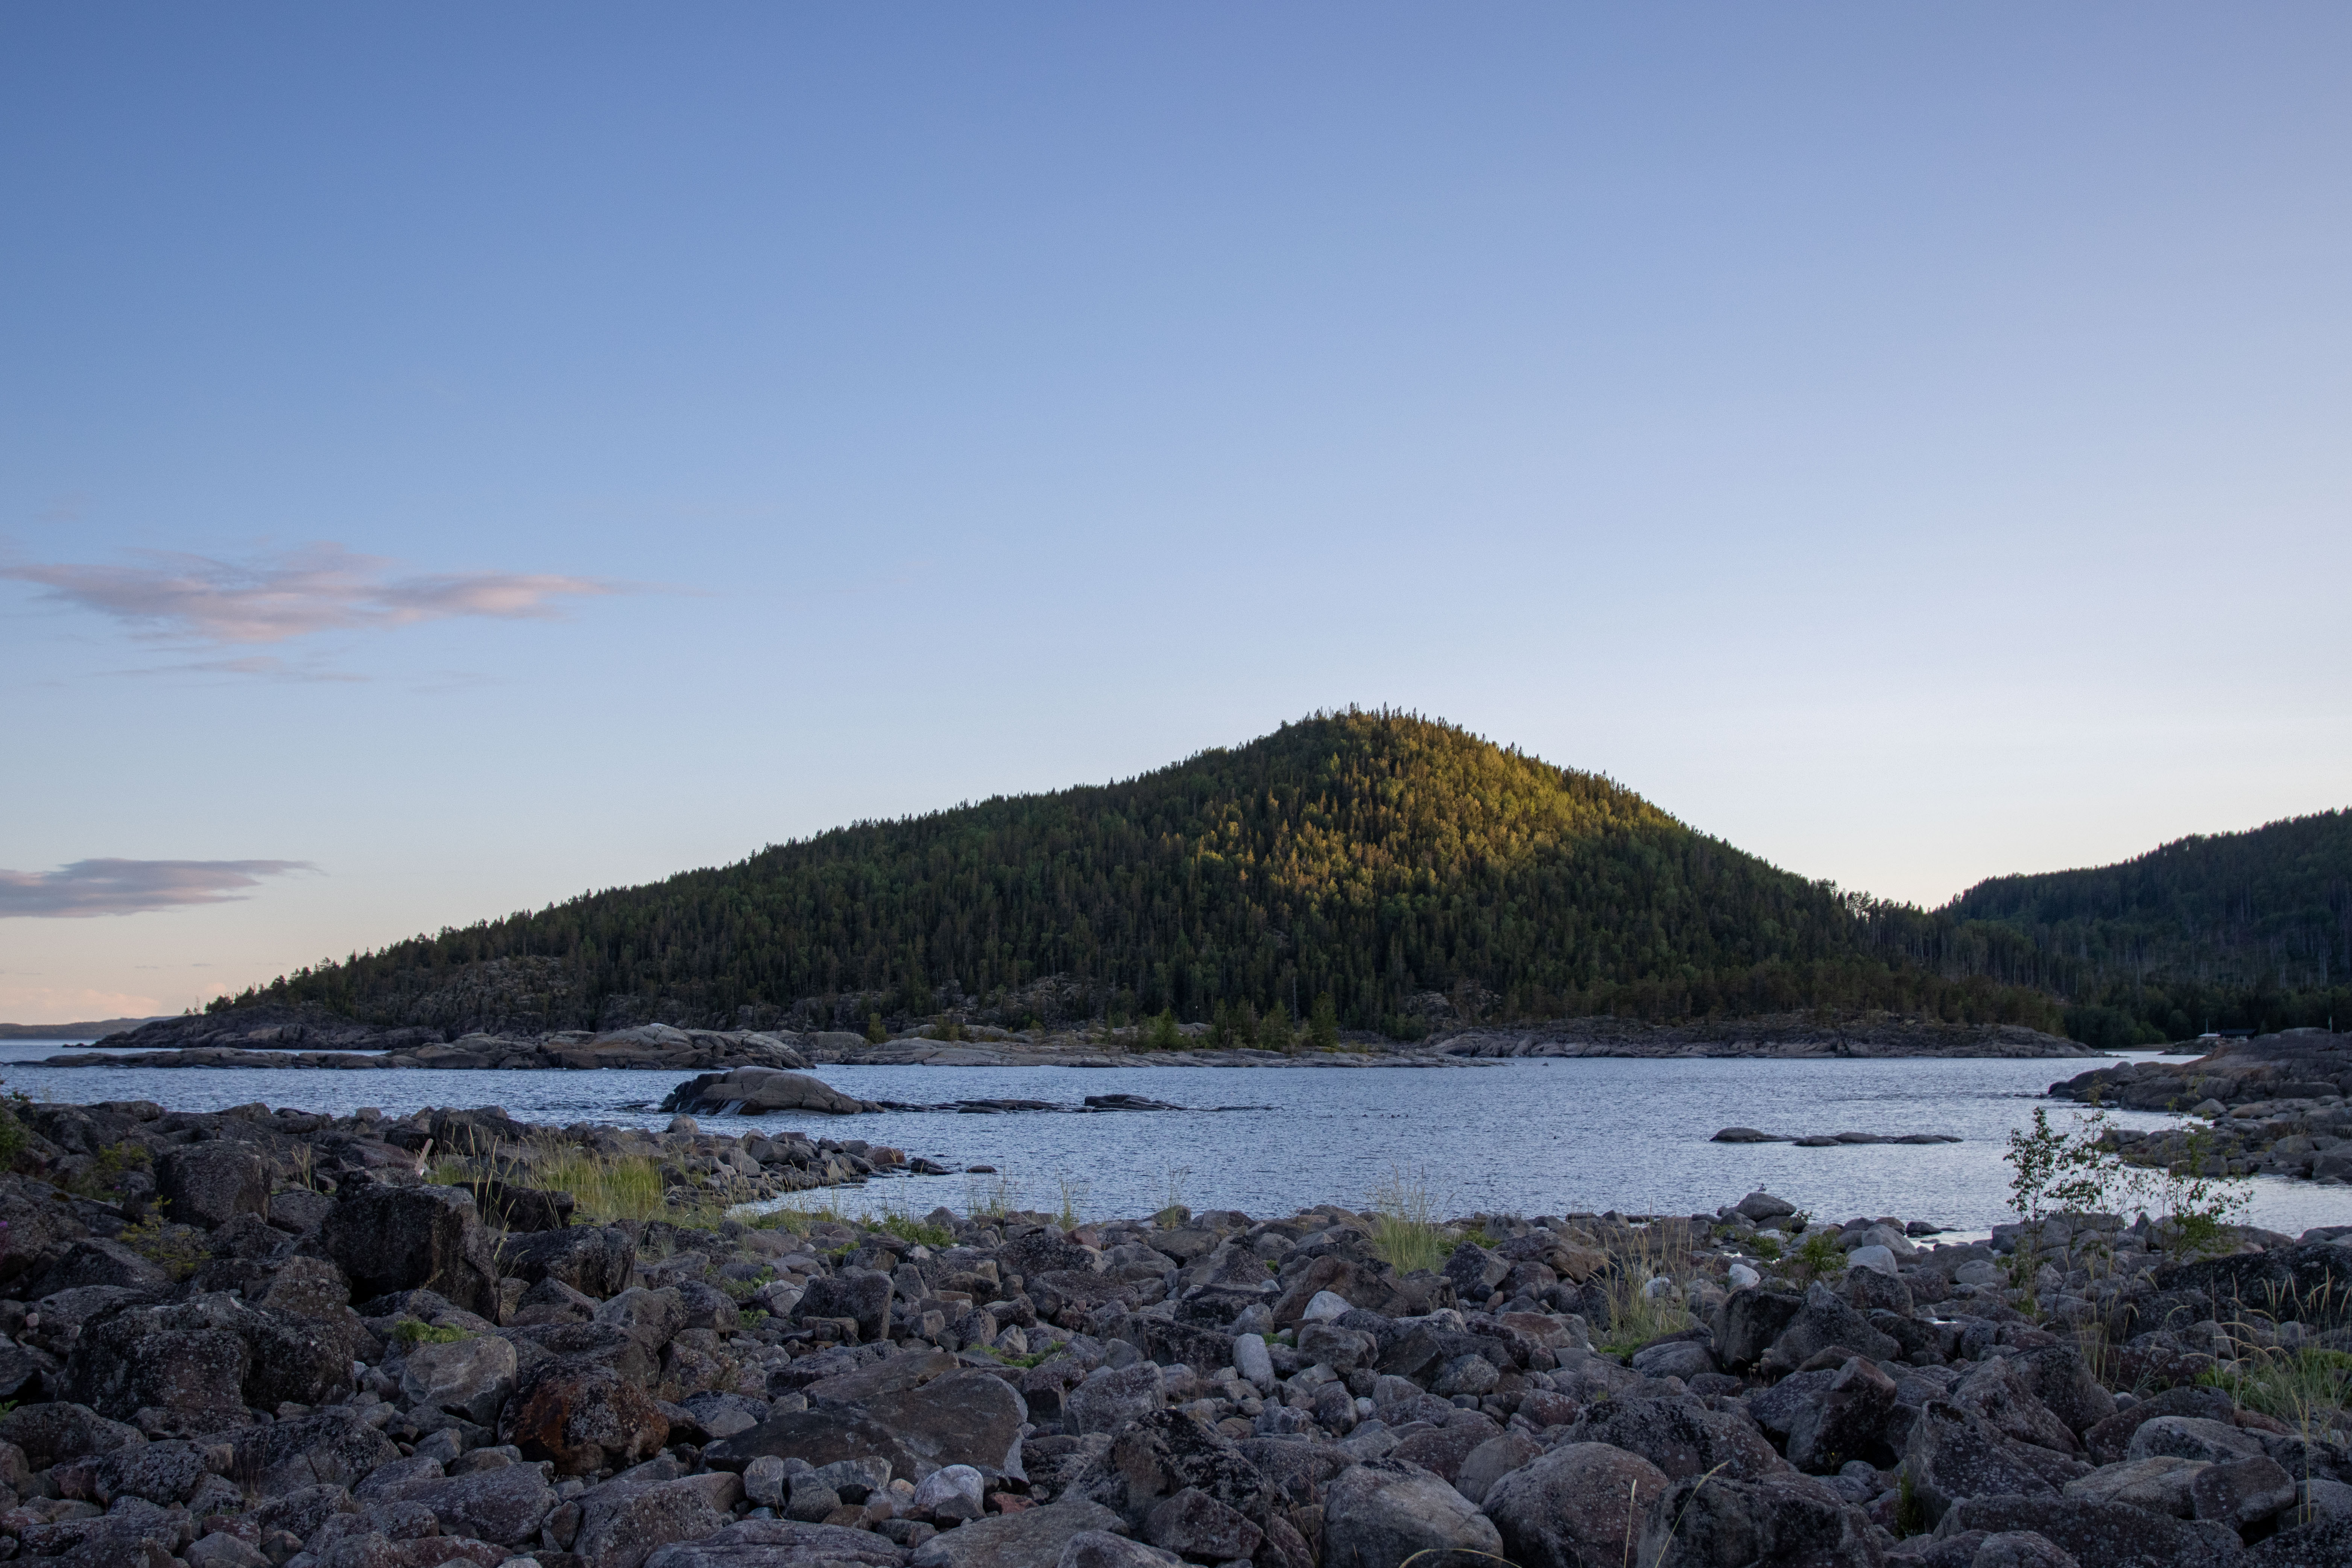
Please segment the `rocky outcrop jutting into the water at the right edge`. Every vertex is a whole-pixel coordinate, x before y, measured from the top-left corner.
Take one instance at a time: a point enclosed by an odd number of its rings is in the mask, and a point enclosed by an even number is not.
[[[2051,1093],[2206,1119],[2204,1128],[2114,1131],[2133,1164],[2352,1185],[2352,1034],[2260,1034],[2190,1063],[2100,1067]]]

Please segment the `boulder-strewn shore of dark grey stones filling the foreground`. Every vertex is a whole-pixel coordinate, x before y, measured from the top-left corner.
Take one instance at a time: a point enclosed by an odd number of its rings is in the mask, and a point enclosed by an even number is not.
[[[0,1556],[2352,1561],[2340,1363],[2310,1354],[2352,1342],[2331,1234],[2169,1262],[2103,1215],[1938,1246],[1766,1194],[1442,1232],[1338,1206],[779,1225],[720,1204],[891,1152],[503,1112],[19,1117]],[[668,1218],[541,1185],[590,1154],[659,1159]],[[1404,1244],[1439,1267],[1399,1272]],[[2321,1368],[2293,1420],[2281,1366]]]

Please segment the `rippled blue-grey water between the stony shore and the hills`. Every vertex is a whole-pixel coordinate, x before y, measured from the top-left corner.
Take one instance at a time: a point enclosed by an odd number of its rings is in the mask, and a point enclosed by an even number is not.
[[[33,1098],[155,1100],[221,1110],[261,1100],[346,1114],[376,1105],[503,1105],[522,1121],[609,1121],[659,1128],[654,1110],[680,1079],[663,1072],[440,1070],[139,1070],[33,1067],[64,1046],[0,1044],[0,1079]],[[1823,1218],[1900,1215],[1985,1229],[2009,1171],[2002,1138],[2058,1079],[2117,1058],[2079,1060],[1508,1060],[1449,1070],[1289,1067],[818,1067],[863,1100],[1025,1098],[1077,1105],[1136,1093],[1185,1110],[1134,1114],[701,1117],[708,1131],[800,1128],[927,1154],[955,1171],[993,1164],[1016,1201],[1080,1213],[1150,1213],[1171,1194],[1192,1208],[1291,1213],[1362,1206],[1395,1175],[1425,1185],[1442,1213],[1693,1213],[1766,1187]],[[2173,1117],[2126,1112],[2126,1126]],[[1797,1150],[1708,1143],[1722,1126],[1773,1133],[1957,1133],[1947,1145]],[[856,1206],[967,1208],[985,1178],[877,1180],[842,1194]],[[2296,1234],[2352,1225],[2352,1187],[2260,1180],[2253,1220]]]

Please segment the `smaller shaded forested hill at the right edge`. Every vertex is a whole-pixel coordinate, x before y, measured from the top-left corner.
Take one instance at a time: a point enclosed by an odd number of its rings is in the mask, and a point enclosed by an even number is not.
[[[2103,1046],[2206,1027],[2352,1027],[2352,811],[2178,839],[2122,865],[1980,882],[1936,912]]]

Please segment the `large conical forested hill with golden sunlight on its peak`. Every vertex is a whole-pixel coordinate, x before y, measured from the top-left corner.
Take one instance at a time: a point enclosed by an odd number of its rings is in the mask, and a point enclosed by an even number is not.
[[[1860,900],[1597,773],[1446,724],[1317,715],[1115,785],[858,823],[750,860],[322,964],[238,1001],[376,1023],[837,1027],[1174,1009],[1338,1020],[1875,1006],[2056,1023],[1877,957]]]

